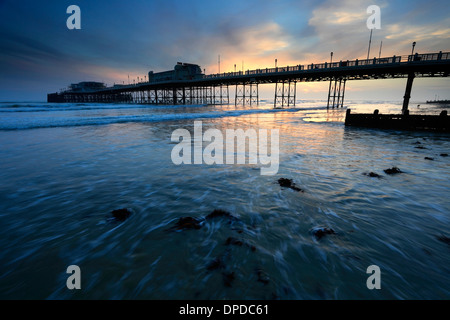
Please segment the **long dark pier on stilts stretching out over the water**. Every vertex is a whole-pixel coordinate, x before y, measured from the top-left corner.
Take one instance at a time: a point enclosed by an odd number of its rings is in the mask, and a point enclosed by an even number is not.
[[[178,63],[179,70],[197,65]],[[177,69],[178,68],[178,69]],[[184,69],[183,69],[184,68]],[[196,69],[197,70],[197,69]],[[235,104],[258,104],[261,84],[275,84],[274,106],[295,106],[296,85],[301,82],[329,81],[327,106],[343,107],[346,82],[350,80],[407,78],[403,113],[408,110],[416,77],[447,77],[450,52],[346,60],[319,64],[225,72],[205,75],[196,71],[169,79],[166,73],[149,72],[149,80],[129,85],[69,89],[48,95],[49,102],[102,102],[141,104],[229,104],[230,86],[235,87]],[[177,73],[178,74],[178,73]],[[181,73],[180,73],[181,74]],[[95,86],[94,86],[95,87]]]

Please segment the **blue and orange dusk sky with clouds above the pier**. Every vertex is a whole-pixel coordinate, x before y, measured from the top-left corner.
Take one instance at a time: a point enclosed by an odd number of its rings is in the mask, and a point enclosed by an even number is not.
[[[69,30],[78,5],[81,29]],[[0,101],[45,101],[71,83],[107,85],[199,64],[207,74],[365,59],[367,7],[380,7],[371,57],[450,51],[447,0],[0,0]],[[346,99],[401,101],[406,79],[351,81]],[[450,98],[450,79],[416,79],[412,100]],[[300,83],[298,99],[328,84]],[[273,87],[260,96],[273,98]]]

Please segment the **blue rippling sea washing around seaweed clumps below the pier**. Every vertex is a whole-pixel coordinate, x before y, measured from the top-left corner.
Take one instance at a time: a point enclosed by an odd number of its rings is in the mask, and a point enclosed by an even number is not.
[[[0,299],[447,300],[449,134],[344,125],[401,107],[0,103]],[[174,163],[194,122],[278,130],[277,171]]]

